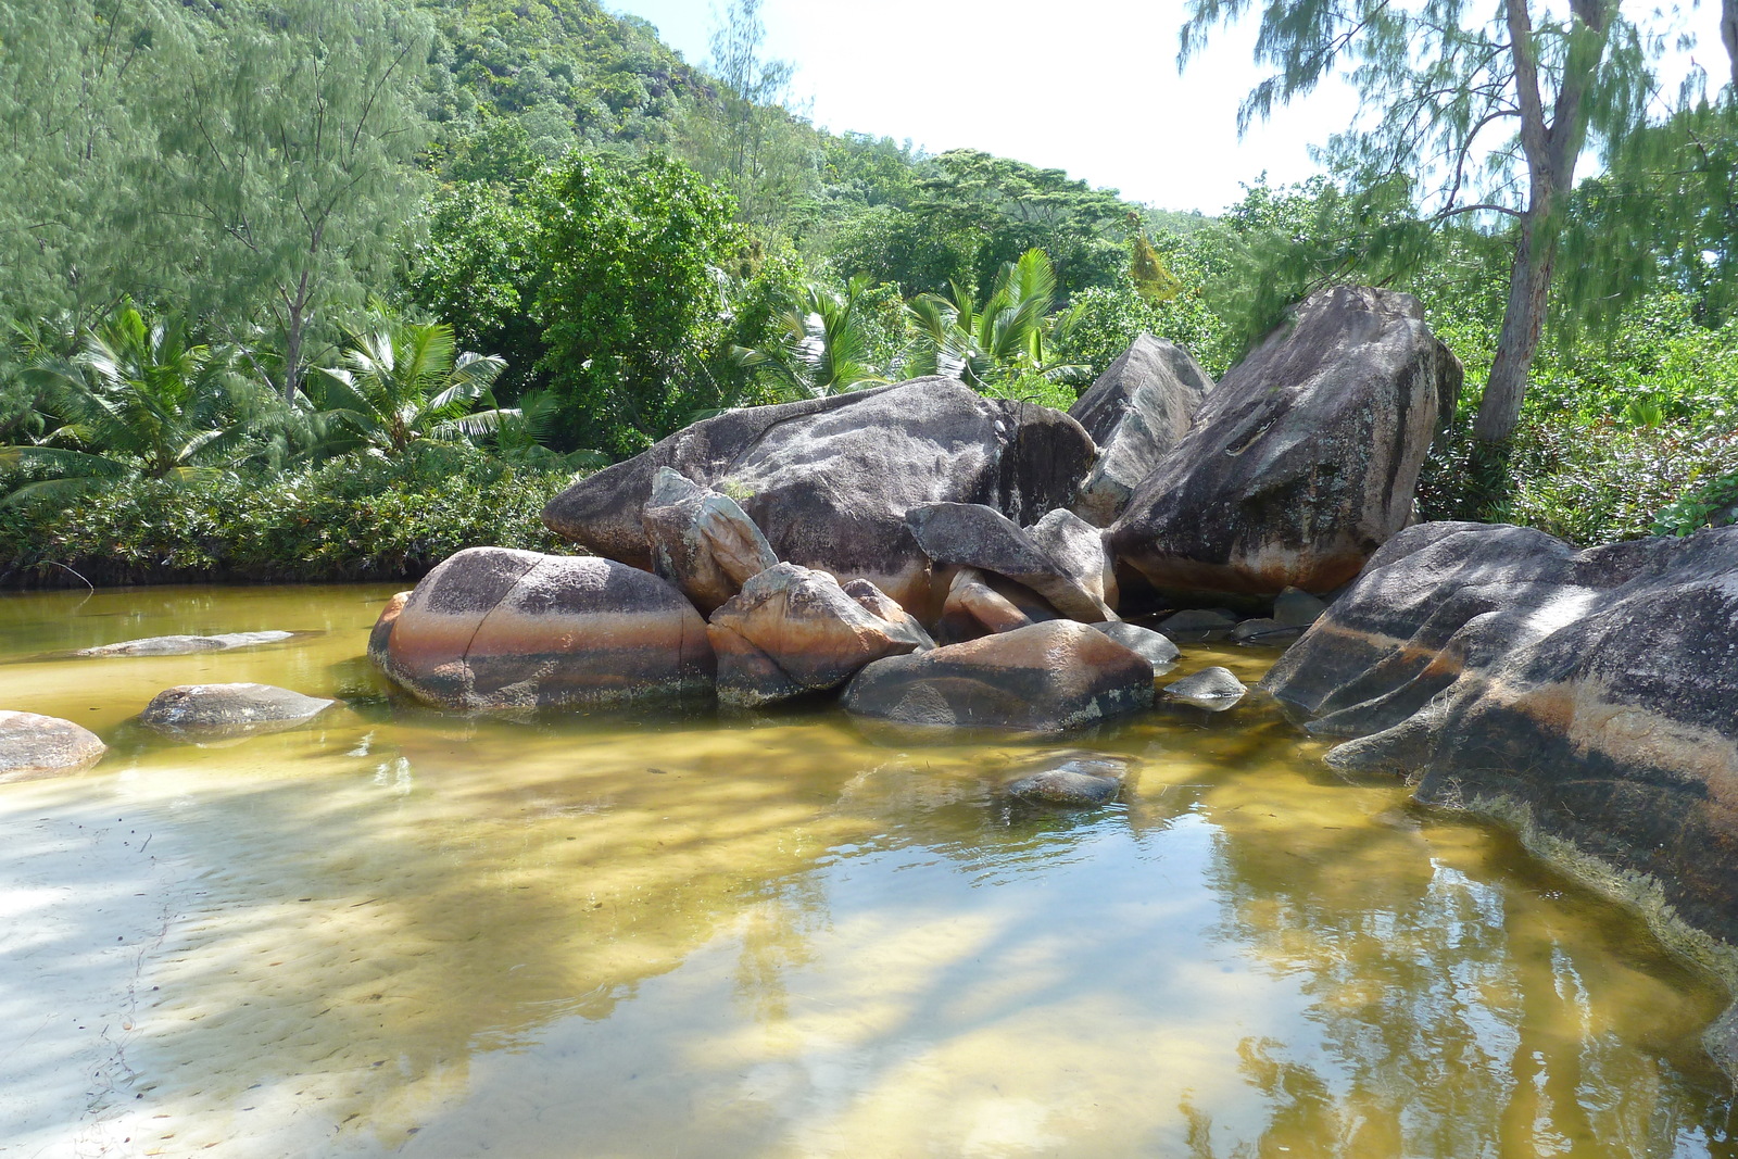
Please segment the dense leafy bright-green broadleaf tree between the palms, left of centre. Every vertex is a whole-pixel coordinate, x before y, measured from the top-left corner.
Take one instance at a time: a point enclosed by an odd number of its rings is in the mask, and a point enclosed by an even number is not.
[[[537,292],[542,368],[580,447],[636,454],[720,405],[702,358],[718,348],[723,276],[740,245],[730,198],[659,155],[575,156],[553,189]]]

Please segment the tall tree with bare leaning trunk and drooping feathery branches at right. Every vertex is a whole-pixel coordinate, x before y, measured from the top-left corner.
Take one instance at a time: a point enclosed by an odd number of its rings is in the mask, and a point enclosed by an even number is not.
[[[1512,221],[1509,301],[1477,438],[1503,441],[1521,417],[1575,188],[1592,144],[1611,151],[1646,122],[1653,71],[1618,0],[1272,0],[1255,56],[1274,66],[1244,99],[1239,127],[1276,101],[1345,73],[1376,109],[1338,134],[1330,158],[1363,181],[1404,174],[1436,222]],[[1250,0],[1191,0],[1180,64]]]

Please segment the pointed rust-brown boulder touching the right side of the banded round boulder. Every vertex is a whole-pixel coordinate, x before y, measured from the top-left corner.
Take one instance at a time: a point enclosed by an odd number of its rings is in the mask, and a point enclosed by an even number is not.
[[[744,584],[713,612],[706,634],[718,653],[718,699],[737,707],[836,688],[871,660],[932,646],[921,629],[881,619],[827,572],[794,563]]]

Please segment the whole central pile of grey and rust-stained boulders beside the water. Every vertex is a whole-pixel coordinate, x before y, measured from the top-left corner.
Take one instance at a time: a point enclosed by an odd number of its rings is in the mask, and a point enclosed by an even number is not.
[[[1342,288],[1218,387],[1142,335],[1067,415],[952,379],[733,410],[549,502],[591,556],[459,553],[368,652],[455,709],[841,690],[904,726],[1072,728],[1151,705],[1178,643],[1295,638],[1288,586],[1326,593],[1404,523],[1458,382],[1416,301]],[[1123,577],[1284,594],[1152,631]]]

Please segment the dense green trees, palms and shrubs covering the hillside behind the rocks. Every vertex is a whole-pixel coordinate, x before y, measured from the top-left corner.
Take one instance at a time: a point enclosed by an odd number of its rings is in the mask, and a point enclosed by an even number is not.
[[[1576,28],[1535,35],[1547,78],[1585,64]],[[1267,103],[1321,66],[1281,42]],[[1449,68],[1479,43],[1366,80],[1415,111],[1446,85],[1453,153],[1516,83]],[[1580,542],[1731,520],[1735,101],[1625,122],[1646,61],[1613,61],[1578,122],[1606,170],[1549,205],[1510,209],[1500,165],[1444,202],[1390,116],[1206,219],[817,130],[756,0],[704,68],[591,0],[0,0],[0,572],[415,573],[544,544],[575,471],[725,407],[916,374],[1067,407],[1142,330],[1222,374],[1335,280],[1416,292],[1467,361],[1425,514]],[[1547,243],[1516,377],[1517,254]]]

